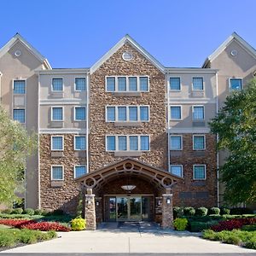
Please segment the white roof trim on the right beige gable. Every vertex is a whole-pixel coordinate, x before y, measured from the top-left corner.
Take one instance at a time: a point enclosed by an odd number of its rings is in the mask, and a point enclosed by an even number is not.
[[[253,55],[254,58],[256,58],[256,49],[254,49],[250,44],[248,44],[243,38],[241,38],[236,32],[233,32],[229,38],[227,38],[224,43],[220,44],[217,49],[215,49],[212,53],[212,55],[209,55],[207,57],[207,60],[203,63],[202,67],[206,67],[207,63],[210,61],[212,62],[219,54],[221,54],[224,49],[233,41],[236,40],[238,44],[241,45],[244,49],[247,50],[247,52],[251,55]]]

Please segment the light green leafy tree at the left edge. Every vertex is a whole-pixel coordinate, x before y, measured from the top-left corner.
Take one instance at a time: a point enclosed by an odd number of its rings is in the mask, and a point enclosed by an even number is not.
[[[24,180],[26,157],[37,148],[36,135],[12,119],[0,106],[0,203],[10,205],[20,201],[15,195]]]

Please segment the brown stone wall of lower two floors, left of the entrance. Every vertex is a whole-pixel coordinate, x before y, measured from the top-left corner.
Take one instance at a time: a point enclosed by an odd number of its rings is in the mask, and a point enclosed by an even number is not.
[[[63,135],[63,134],[55,134]],[[40,200],[41,207],[47,210],[61,209],[65,212],[75,213],[81,184],[74,181],[73,168],[75,165],[86,165],[84,158],[75,156],[73,150],[74,134],[64,134],[64,152],[62,157],[52,157],[50,148],[50,135],[40,135]],[[53,187],[50,180],[51,165],[64,166],[64,182],[60,187]]]

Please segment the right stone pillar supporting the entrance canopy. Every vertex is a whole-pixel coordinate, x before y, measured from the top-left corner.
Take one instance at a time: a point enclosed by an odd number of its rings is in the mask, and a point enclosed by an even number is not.
[[[162,228],[172,229],[173,212],[172,212],[172,194],[171,189],[166,189],[166,194],[163,194],[162,201]]]

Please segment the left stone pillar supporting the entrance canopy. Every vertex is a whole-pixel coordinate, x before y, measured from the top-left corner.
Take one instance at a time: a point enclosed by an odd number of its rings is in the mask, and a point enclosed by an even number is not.
[[[86,230],[96,230],[95,195],[92,194],[92,189],[87,189],[84,207]]]

